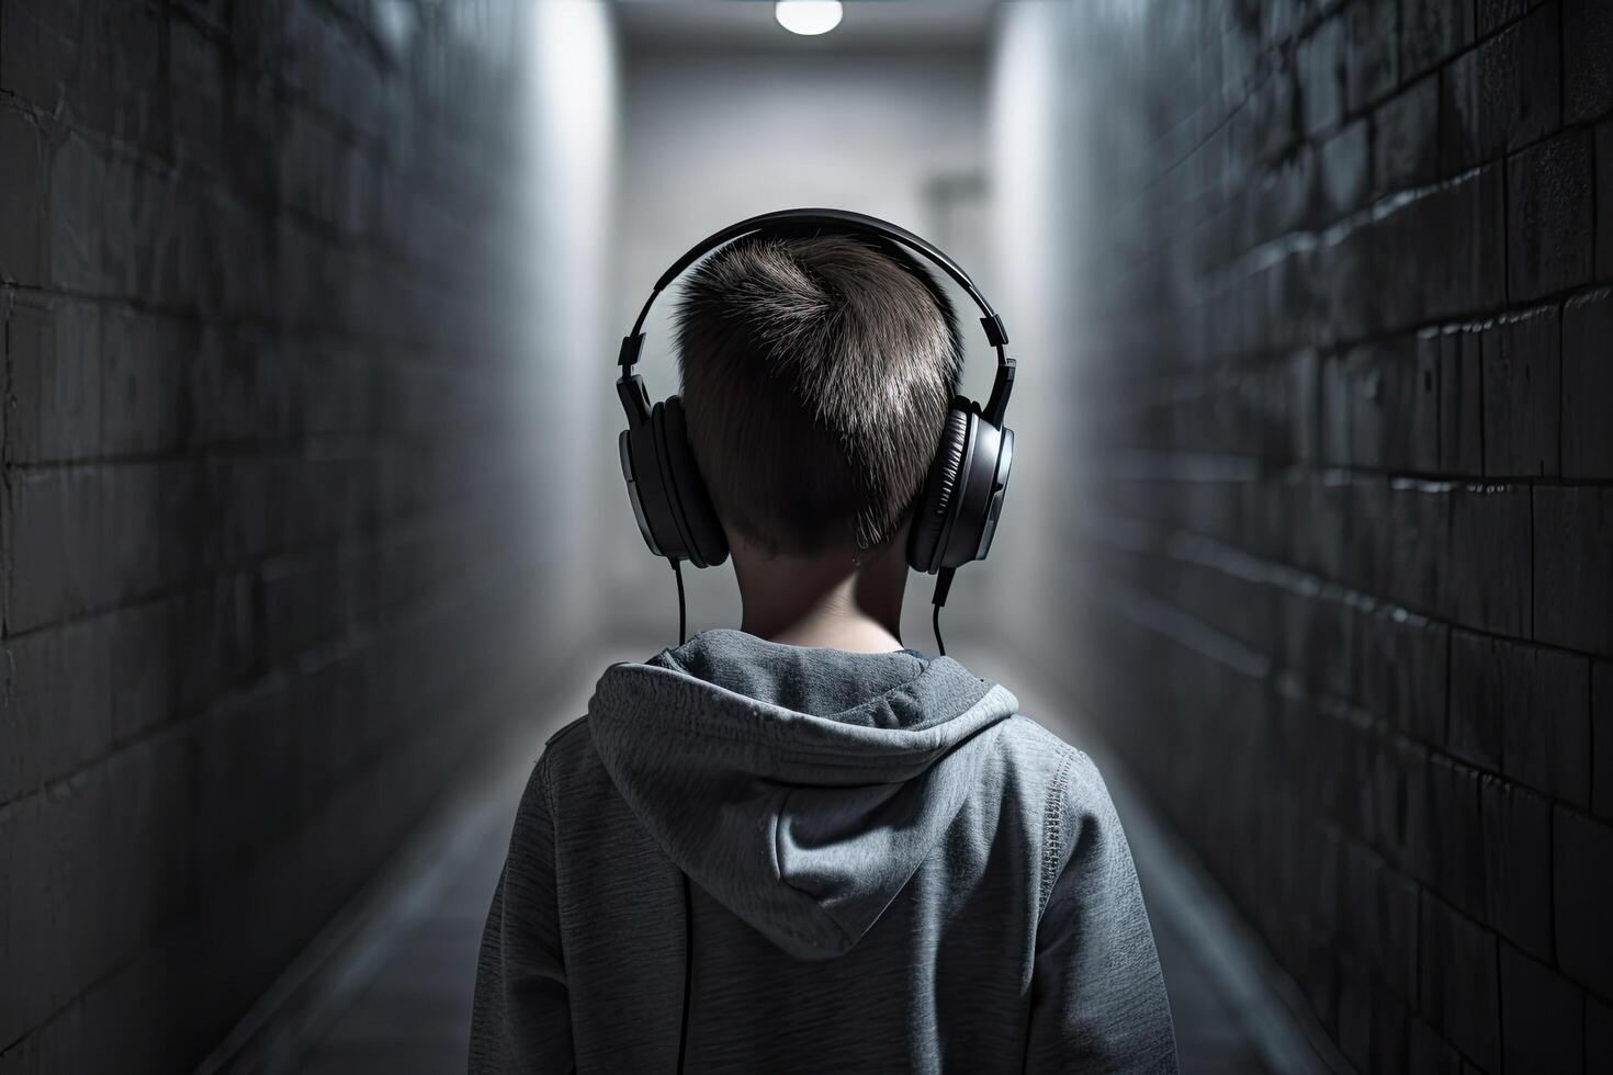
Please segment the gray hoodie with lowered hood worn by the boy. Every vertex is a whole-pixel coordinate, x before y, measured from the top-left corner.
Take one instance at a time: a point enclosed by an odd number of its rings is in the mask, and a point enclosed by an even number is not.
[[[1174,1072],[1103,780],[1016,709],[737,630],[610,667],[521,801],[471,1072]]]

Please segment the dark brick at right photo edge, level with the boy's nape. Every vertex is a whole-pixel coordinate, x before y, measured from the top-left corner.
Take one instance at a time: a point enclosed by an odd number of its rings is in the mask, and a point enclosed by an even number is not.
[[[1613,654],[1613,490],[1534,490],[1534,637]]]

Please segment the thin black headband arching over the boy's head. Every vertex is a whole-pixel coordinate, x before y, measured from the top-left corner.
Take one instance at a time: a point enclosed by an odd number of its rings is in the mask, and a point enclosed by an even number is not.
[[[981,311],[981,327],[986,329],[986,340],[997,350],[997,377],[992,382],[992,395],[987,398],[986,406],[981,414],[992,424],[1002,425],[1003,413],[1008,409],[1008,395],[1013,392],[1015,379],[1015,361],[1008,358],[1005,347],[1008,345],[1008,330],[1003,327],[1002,318],[992,309],[992,305],[986,301],[981,288],[974,285],[969,274],[958,268],[958,263],[944,255],[940,250],[924,242],[905,227],[890,224],[889,221],[881,221],[874,216],[866,216],[863,213],[850,213],[847,210],[779,210],[774,213],[763,213],[760,216],[752,216],[737,224],[729,224],[719,232],[713,232],[702,239],[698,243],[689,248],[689,251],[674,261],[661,279],[655,282],[655,288],[650,297],[644,301],[644,308],[639,311],[639,319],[632,322],[632,332],[623,337],[621,351],[616,358],[621,366],[621,379],[616,382],[621,390],[623,405],[627,408],[627,421],[636,421],[636,411],[639,411],[637,400],[642,398],[642,390],[627,392],[626,387],[632,379],[632,367],[639,361],[639,351],[644,348],[644,322],[650,316],[650,308],[655,305],[656,297],[666,287],[682,276],[684,269],[692,266],[695,261],[711,253],[718,247],[732,242],[742,235],[752,232],[760,232],[768,227],[792,226],[792,227],[824,227],[827,230],[850,232],[876,235],[895,242],[908,250],[921,255],[924,259],[937,266],[942,272],[950,276],[953,282],[958,284],[974,301]],[[631,398],[629,398],[631,395]],[[645,401],[647,405],[647,401]],[[642,413],[639,414],[642,419]]]

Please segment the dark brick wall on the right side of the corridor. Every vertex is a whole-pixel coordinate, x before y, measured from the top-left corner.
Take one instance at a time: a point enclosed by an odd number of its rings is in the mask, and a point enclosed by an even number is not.
[[[1074,24],[1087,704],[1360,1070],[1613,1070],[1613,5]]]

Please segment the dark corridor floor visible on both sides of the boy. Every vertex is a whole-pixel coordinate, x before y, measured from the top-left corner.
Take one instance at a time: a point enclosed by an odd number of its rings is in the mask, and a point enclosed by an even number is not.
[[[639,646],[632,654],[653,651]],[[960,646],[965,653],[968,648]],[[623,658],[627,654],[624,653]],[[969,659],[969,658],[966,658]],[[1190,854],[1073,720],[1044,714],[1055,696],[1029,669],[971,667],[1015,688],[1024,712],[1098,762],[1126,824],[1153,920],[1184,1073],[1326,1072],[1316,1035],[1284,1002],[1286,980],[1229,912]],[[603,664],[600,666],[603,667]],[[305,973],[295,1015],[271,1014],[252,1048],[221,1070],[274,1075],[439,1075],[463,1072],[482,920],[498,880],[521,788],[544,740],[586,709],[592,680],[573,685],[556,717],[494,751],[476,788],[448,803],[350,915]],[[1326,1043],[1321,1043],[1327,1049]],[[1331,1052],[1331,1049],[1329,1049]]]

